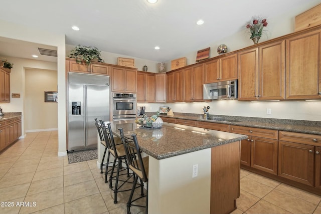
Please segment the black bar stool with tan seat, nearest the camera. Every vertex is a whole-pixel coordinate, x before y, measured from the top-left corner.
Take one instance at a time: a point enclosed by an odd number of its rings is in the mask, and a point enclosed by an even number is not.
[[[124,136],[122,128],[119,129],[120,136],[122,143],[125,148],[126,156],[127,156],[127,161],[129,164],[129,168],[133,171],[135,175],[134,182],[132,184],[130,196],[127,202],[127,214],[130,214],[130,206],[140,206],[140,207],[145,207],[145,213],[148,213],[148,156],[147,157],[141,157],[140,154],[140,148],[138,145],[137,137],[136,134],[132,134],[131,137],[132,139],[130,140],[129,138]],[[140,197],[137,197],[135,199],[132,199],[132,196],[134,194],[134,190],[136,188],[136,183],[137,180],[140,180],[140,186],[141,186],[141,193]],[[146,195],[144,195],[143,192],[143,182],[147,184],[146,187]],[[133,204],[132,202],[145,197],[146,196],[146,205],[138,205],[138,204]]]

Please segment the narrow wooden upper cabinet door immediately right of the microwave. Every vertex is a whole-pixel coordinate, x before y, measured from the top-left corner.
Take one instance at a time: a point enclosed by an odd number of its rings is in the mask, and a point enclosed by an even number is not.
[[[238,53],[238,100],[258,100],[258,48]]]

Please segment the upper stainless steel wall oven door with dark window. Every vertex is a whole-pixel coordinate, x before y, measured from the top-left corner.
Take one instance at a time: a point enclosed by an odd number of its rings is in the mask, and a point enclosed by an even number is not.
[[[115,115],[136,115],[136,99],[113,98],[112,114]]]

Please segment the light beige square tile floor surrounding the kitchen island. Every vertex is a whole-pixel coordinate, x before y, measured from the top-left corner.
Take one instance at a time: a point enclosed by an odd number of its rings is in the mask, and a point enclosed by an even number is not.
[[[0,213],[126,213],[129,191],[113,192],[97,160],[58,157],[56,131],[28,133],[0,154]],[[130,184],[124,188],[130,188]],[[241,170],[238,213],[320,213],[321,197]],[[25,202],[25,203],[23,203]],[[143,204],[143,201],[141,201]],[[143,213],[143,208],[132,208]]]

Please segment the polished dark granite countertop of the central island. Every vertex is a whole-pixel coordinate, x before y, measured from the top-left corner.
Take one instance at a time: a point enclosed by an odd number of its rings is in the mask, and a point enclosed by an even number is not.
[[[145,128],[133,121],[111,122],[113,134],[120,137],[119,128],[124,135],[137,135],[143,152],[155,159],[165,159],[206,148],[246,139],[246,135],[208,130],[179,124],[163,124],[159,129]]]

